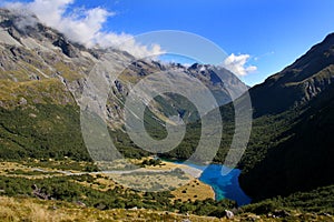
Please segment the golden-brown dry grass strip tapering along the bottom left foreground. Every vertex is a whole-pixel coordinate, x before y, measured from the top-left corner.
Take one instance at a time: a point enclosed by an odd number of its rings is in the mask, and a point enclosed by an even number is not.
[[[114,209],[100,211],[96,209],[82,209],[75,204],[61,205],[61,202],[39,201],[36,199],[13,199],[0,196],[0,221],[31,221],[31,222],[58,222],[58,221],[181,221],[189,219],[196,221],[219,221],[215,218],[184,215],[171,212],[151,210],[125,210]],[[57,206],[56,206],[57,205]]]

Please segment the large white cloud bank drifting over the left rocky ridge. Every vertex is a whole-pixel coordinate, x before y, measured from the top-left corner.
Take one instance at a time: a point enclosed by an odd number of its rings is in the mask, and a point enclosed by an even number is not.
[[[163,53],[158,44],[143,46],[136,42],[135,37],[126,33],[104,32],[102,26],[107,19],[115,16],[102,8],[92,9],[67,9],[75,0],[35,0],[28,3],[7,3],[7,8],[19,10],[24,14],[35,13],[39,20],[62,32],[75,42],[94,47],[96,44],[108,48],[114,47],[128,51],[135,57],[143,58]],[[26,12],[24,12],[26,11]]]

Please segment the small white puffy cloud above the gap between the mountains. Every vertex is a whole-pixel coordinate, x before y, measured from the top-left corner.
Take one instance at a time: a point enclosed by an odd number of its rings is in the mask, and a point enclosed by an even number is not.
[[[254,65],[247,65],[247,61],[249,60],[249,54],[235,56],[234,53],[232,53],[224,60],[222,65],[232,71],[234,74],[244,77],[257,70],[257,68]]]

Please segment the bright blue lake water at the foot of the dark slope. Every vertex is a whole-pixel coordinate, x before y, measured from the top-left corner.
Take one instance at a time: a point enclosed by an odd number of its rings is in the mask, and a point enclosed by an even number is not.
[[[238,205],[250,203],[250,198],[248,198],[239,186],[238,176],[240,170],[233,169],[227,175],[223,175],[222,170],[227,170],[228,168],[222,164],[198,165],[186,162],[175,163],[187,164],[199,170],[205,169],[200,174],[199,180],[214,189],[215,199],[217,201],[226,198],[236,201]]]

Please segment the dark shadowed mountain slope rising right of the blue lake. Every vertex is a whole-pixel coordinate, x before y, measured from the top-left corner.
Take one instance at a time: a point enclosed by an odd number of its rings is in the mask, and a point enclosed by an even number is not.
[[[255,200],[334,183],[333,68],[334,34],[330,34],[295,63],[250,90],[257,119],[239,180]],[[274,121],[261,124],[264,119]],[[256,128],[272,133],[271,140],[256,135]],[[276,132],[271,132],[273,129]],[[257,147],[256,140],[265,145]],[[249,163],[252,155],[255,163]]]

